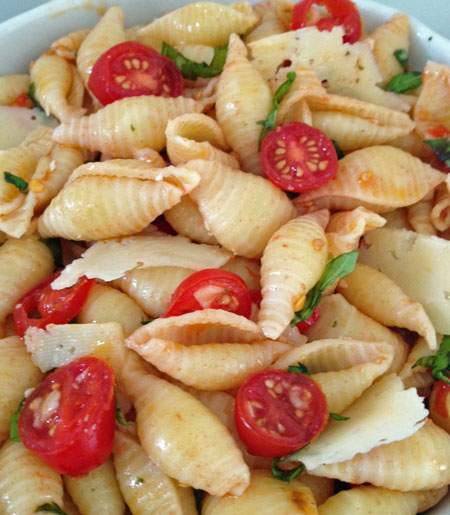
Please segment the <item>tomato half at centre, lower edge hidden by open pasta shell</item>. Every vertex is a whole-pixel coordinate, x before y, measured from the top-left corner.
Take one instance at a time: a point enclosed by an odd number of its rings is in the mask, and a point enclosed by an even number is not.
[[[161,318],[206,308],[223,309],[249,318],[252,300],[247,285],[237,274],[227,270],[200,270],[178,286]]]

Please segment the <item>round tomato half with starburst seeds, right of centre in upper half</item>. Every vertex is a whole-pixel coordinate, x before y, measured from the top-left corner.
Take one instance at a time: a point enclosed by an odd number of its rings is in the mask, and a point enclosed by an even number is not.
[[[261,165],[267,177],[286,191],[318,188],[336,176],[333,142],[319,129],[301,122],[277,127],[263,139]]]

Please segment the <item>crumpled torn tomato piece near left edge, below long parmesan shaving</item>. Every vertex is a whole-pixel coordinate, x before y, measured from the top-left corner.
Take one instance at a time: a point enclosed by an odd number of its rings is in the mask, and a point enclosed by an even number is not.
[[[45,279],[19,299],[13,311],[17,336],[23,338],[29,327],[43,329],[48,324],[67,324],[80,312],[95,279],[83,276],[70,288],[53,290],[50,285],[60,273]],[[30,316],[34,310],[37,310],[41,318]]]

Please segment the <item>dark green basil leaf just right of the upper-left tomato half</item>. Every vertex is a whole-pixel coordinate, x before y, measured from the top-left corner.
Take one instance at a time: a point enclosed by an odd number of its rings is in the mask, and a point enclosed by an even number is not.
[[[175,48],[163,42],[161,54],[171,59],[181,71],[185,79],[196,80],[197,77],[215,77],[222,73],[227,59],[228,45],[218,46],[214,49],[214,56],[210,64],[191,61]]]

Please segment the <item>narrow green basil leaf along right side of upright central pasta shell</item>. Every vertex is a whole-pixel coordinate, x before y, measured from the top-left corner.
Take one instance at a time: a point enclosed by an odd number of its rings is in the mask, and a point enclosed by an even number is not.
[[[291,327],[294,327],[294,325],[299,322],[303,322],[313,314],[314,308],[319,304],[320,299],[322,298],[322,293],[328,288],[328,286],[331,286],[336,279],[346,277],[348,274],[353,272],[357,259],[358,251],[354,250],[347,254],[341,254],[328,263],[322,277],[306,294],[303,308],[295,313],[294,318],[291,320]]]

